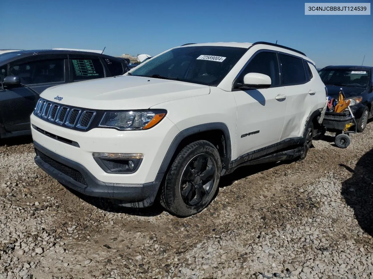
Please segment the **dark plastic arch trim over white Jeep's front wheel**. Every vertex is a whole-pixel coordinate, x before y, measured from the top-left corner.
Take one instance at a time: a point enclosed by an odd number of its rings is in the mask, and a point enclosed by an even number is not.
[[[224,174],[231,162],[232,144],[228,126],[223,122],[200,124],[179,132],[168,148],[158,173],[166,173],[179,151],[196,140],[207,140],[218,147],[220,158],[222,158],[222,174]]]

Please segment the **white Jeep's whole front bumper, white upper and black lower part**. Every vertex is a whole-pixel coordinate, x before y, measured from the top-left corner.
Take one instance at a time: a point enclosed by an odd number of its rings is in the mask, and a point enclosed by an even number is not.
[[[95,128],[81,132],[33,114],[31,125],[35,163],[41,169],[85,195],[119,199],[131,207],[153,203],[164,174],[160,166],[179,132],[167,117],[145,131]],[[107,173],[93,153],[141,153],[144,158],[133,173]]]

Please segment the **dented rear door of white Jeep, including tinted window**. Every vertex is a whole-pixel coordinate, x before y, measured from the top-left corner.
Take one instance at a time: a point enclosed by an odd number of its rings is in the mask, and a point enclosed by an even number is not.
[[[285,124],[280,138],[282,141],[303,136],[305,122],[318,103],[316,91],[319,88],[314,88],[314,83],[310,82],[312,73],[303,59],[279,53],[279,61],[281,83],[285,87],[287,101]]]

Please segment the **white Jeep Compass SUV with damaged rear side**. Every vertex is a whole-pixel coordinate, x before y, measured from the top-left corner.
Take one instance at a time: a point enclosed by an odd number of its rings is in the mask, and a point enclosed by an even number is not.
[[[123,76],[51,87],[35,162],[85,195],[190,216],[239,166],[304,158],[326,90],[314,62],[266,42],[186,44]]]

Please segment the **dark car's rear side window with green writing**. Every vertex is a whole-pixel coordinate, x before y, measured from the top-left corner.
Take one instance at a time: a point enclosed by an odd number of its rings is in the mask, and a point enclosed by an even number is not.
[[[100,57],[95,55],[69,54],[69,66],[70,82],[107,76],[103,62],[101,62]]]

